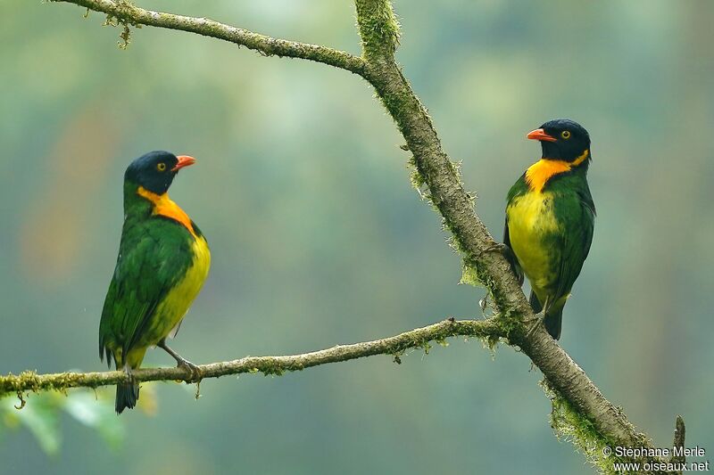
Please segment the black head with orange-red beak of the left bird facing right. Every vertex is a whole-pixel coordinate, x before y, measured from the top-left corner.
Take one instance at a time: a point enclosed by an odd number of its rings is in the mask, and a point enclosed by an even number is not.
[[[194,163],[195,159],[187,155],[177,157],[170,152],[148,152],[131,162],[124,174],[124,182],[143,186],[149,192],[163,194],[169,190],[179,170]]]

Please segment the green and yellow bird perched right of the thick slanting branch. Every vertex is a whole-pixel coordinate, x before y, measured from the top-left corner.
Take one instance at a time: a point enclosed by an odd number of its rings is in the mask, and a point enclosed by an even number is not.
[[[540,141],[543,157],[508,193],[503,242],[519,282],[526,274],[531,284],[531,307],[558,340],[563,306],[593,241],[590,135],[577,122],[556,119],[527,138]]]

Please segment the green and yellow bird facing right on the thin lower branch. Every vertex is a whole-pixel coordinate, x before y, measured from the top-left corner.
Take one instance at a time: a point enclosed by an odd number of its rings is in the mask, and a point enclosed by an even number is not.
[[[203,233],[169,198],[169,187],[181,168],[195,159],[170,152],[149,152],[134,160],[124,174],[124,226],[119,257],[99,323],[99,357],[112,358],[129,376],[146,349],[158,346],[179,366],[194,364],[166,346],[201,291],[211,266]],[[137,405],[139,386],[117,385],[116,412]]]

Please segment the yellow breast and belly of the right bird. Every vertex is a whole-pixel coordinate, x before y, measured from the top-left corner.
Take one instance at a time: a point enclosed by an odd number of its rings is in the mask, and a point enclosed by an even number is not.
[[[506,209],[511,249],[534,288],[547,286],[553,277],[546,238],[557,233],[560,225],[552,198],[552,192],[527,192],[514,198]]]

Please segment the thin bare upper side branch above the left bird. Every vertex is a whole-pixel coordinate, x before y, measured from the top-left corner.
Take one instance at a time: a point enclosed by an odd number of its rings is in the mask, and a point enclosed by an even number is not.
[[[52,2],[66,2],[87,7],[95,12],[103,12],[116,18],[124,25],[147,25],[165,29],[179,29],[214,37],[235,43],[239,46],[255,50],[265,56],[282,56],[287,58],[300,58],[303,60],[317,61],[342,70],[348,70],[361,75],[364,60],[344,51],[338,51],[327,46],[298,43],[273,37],[266,37],[253,33],[247,29],[240,29],[207,18],[187,17],[173,13],[154,12],[139,8],[127,0],[51,0]],[[126,39],[126,38],[125,38]]]

